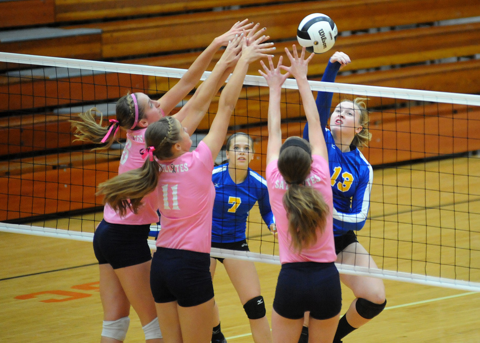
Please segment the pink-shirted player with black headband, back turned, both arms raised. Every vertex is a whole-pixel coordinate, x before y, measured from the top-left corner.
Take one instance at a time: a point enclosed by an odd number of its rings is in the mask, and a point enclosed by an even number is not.
[[[266,179],[270,205],[276,220],[281,270],[272,311],[274,343],[297,343],[304,313],[310,311],[310,339],[331,343],[340,319],[342,291],[334,261],[333,199],[325,140],[318,134],[320,119],[307,80],[305,47],[298,56],[285,48],[292,65],[269,67],[260,73],[267,80],[268,145]],[[282,75],[280,70],[286,70]],[[310,143],[289,137],[282,144],[280,128],[281,85],[289,75],[297,80],[307,117]]]

